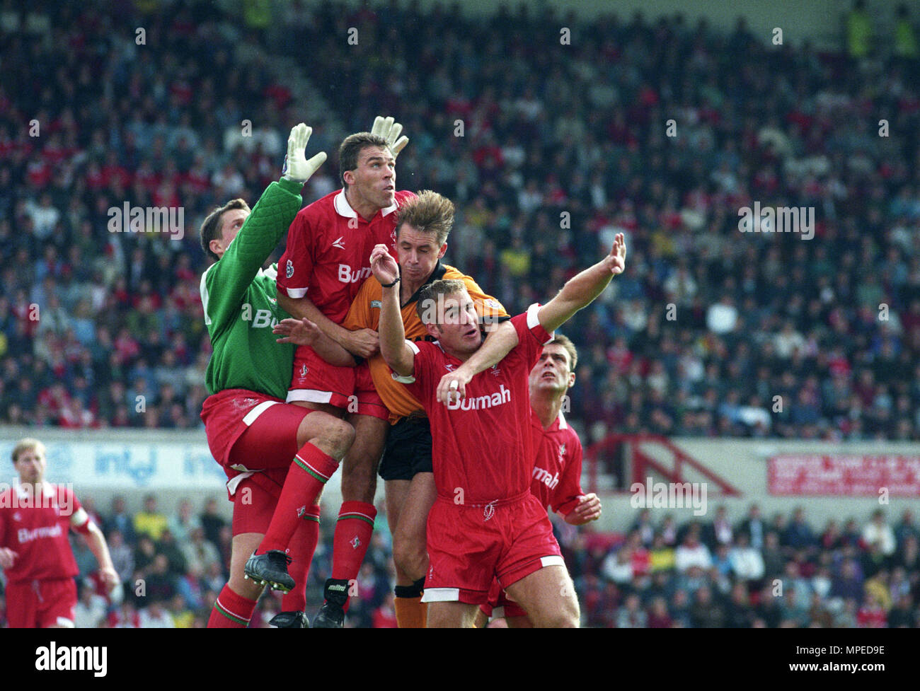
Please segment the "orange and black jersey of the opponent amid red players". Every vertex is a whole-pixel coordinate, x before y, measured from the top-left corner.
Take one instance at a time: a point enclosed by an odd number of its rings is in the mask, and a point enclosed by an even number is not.
[[[411,298],[409,298],[401,307],[403,328],[406,331],[406,338],[409,341],[433,341],[435,340],[428,334],[425,325],[421,323],[418,312],[415,310],[415,303],[419,301],[419,293],[425,286],[440,279],[456,279],[466,283],[466,290],[469,296],[476,304],[476,311],[479,315],[479,323],[500,323],[511,319],[505,308],[501,306],[498,300],[487,295],[477,285],[477,282],[462,274],[454,268],[442,264],[440,261],[431,272],[428,280],[422,284]],[[373,276],[367,278],[358,294],[351,302],[348,314],[342,326],[354,331],[355,329],[374,329],[377,331],[380,327],[380,306],[383,299],[384,289]],[[374,379],[374,388],[384,404],[390,411],[390,424],[394,424],[401,417],[410,414],[423,414],[421,403],[408,392],[408,389],[393,379],[393,370],[386,364],[384,357],[377,353],[368,360],[368,366],[371,369],[371,378]]]

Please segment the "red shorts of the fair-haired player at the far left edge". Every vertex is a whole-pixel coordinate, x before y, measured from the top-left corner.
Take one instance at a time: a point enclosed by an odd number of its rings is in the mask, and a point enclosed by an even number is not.
[[[6,621],[10,629],[74,626],[73,578],[6,583]]]

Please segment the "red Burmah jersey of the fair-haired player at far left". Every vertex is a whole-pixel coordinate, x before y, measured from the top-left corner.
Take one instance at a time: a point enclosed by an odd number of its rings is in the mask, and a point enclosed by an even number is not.
[[[0,493],[0,547],[17,553],[6,569],[10,583],[44,578],[73,578],[76,568],[68,532],[89,520],[74,493],[45,482],[41,500],[18,487]]]

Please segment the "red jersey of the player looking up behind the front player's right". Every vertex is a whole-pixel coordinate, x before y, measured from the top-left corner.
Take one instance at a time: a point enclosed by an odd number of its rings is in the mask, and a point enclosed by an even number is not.
[[[561,412],[549,429],[544,429],[532,410],[531,431],[536,463],[530,491],[540,504],[552,505],[557,514],[567,515],[584,494],[581,490],[581,439]]]

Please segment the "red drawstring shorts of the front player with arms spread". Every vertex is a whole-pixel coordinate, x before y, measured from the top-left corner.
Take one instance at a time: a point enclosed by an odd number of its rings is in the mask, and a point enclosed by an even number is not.
[[[454,504],[438,496],[428,514],[422,602],[484,605],[502,588],[544,566],[564,565],[546,509],[530,492],[490,504]]]

